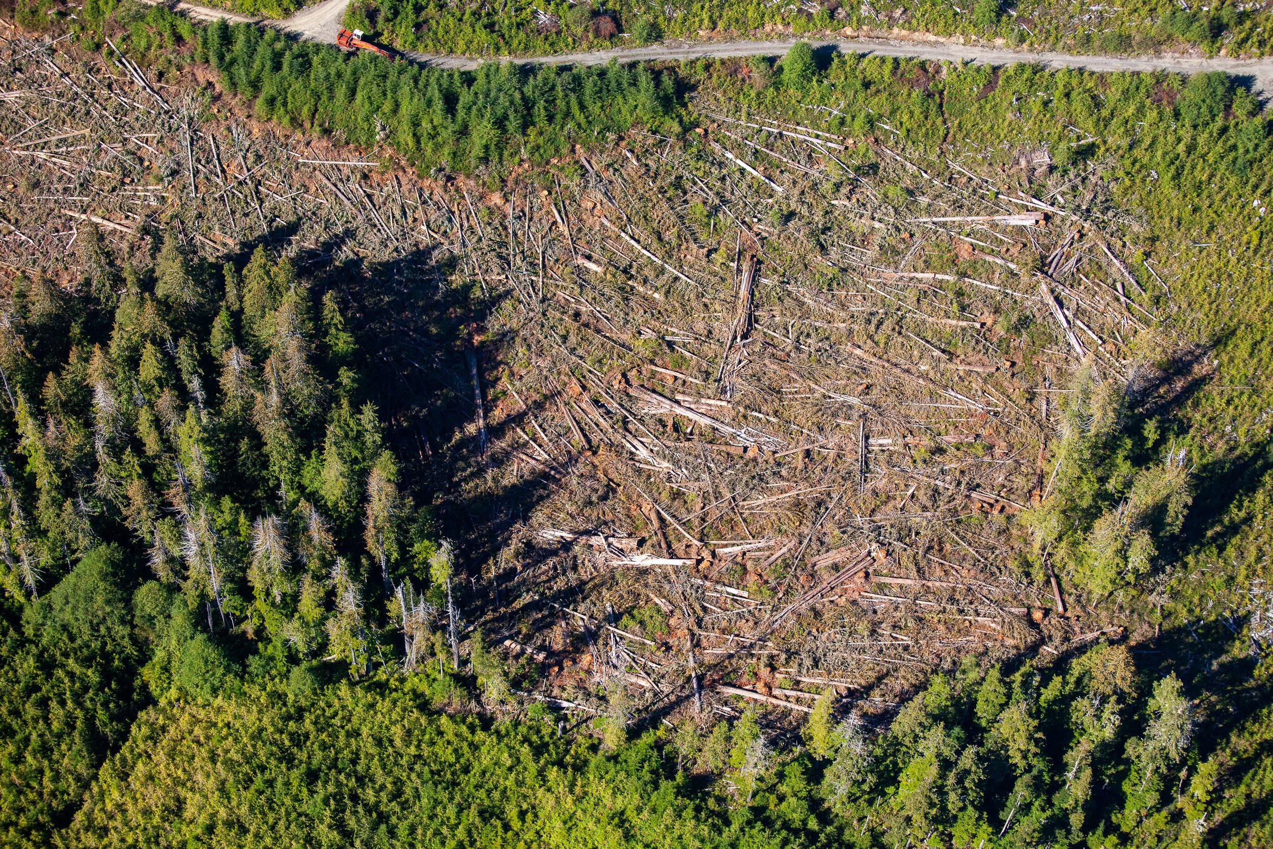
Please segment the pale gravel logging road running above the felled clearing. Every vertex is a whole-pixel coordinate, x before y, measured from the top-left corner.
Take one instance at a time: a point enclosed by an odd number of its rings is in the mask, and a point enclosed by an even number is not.
[[[294,33],[309,41],[335,45],[340,23],[345,15],[349,0],[323,0],[317,5],[302,9],[284,20],[269,22],[270,25]],[[173,8],[199,20],[225,18],[233,22],[256,20],[247,15],[209,9],[190,3],[177,3]],[[771,41],[717,41],[717,42],[662,42],[649,47],[620,47],[578,53],[558,53],[554,56],[490,57],[448,56],[433,53],[404,52],[412,61],[434,67],[458,67],[472,70],[484,61],[519,61],[541,65],[605,65],[610,60],[620,62],[640,62],[654,60],[693,61],[696,59],[727,59],[738,56],[780,56],[798,41],[808,41],[815,48],[829,48],[844,53],[875,53],[878,56],[897,56],[909,59],[929,59],[946,62],[974,62],[979,65],[1015,65],[1034,62],[1044,67],[1082,67],[1091,71],[1171,71],[1193,74],[1197,71],[1225,71],[1248,81],[1253,90],[1260,94],[1273,94],[1273,59],[1230,59],[1226,56],[1083,56],[1053,51],[1023,51],[950,42],[923,42],[885,38],[777,38]]]

